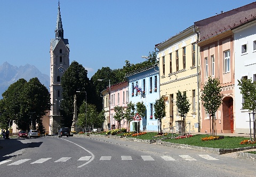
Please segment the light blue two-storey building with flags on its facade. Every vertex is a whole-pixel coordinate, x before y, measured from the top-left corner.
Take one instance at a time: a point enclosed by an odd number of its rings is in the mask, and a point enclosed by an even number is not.
[[[129,101],[143,102],[147,108],[140,120],[140,131],[158,131],[158,119],[154,117],[154,103],[159,99],[159,68],[147,67],[127,75],[129,80]],[[137,131],[137,122],[132,121],[130,131]]]

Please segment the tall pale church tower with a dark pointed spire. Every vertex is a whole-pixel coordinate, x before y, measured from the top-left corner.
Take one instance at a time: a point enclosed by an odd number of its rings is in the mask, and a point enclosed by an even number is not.
[[[69,67],[69,44],[68,39],[64,39],[64,30],[60,15],[60,2],[58,6],[57,25],[55,29],[55,38],[51,39],[50,46],[51,70],[50,70],[50,94],[51,110],[49,134],[57,133],[60,124],[60,104],[62,100],[62,87],[60,85],[61,77]]]

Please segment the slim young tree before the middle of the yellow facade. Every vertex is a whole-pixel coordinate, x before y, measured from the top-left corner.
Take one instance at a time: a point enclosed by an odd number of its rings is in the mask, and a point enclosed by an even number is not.
[[[181,117],[181,135],[183,136],[184,134],[186,134],[186,117],[185,117],[185,115],[188,113],[188,111],[190,109],[190,103],[187,98],[186,92],[183,92],[183,95],[181,95],[181,92],[178,90],[176,105],[178,107],[178,112]],[[182,118],[183,118],[183,120],[182,120]]]

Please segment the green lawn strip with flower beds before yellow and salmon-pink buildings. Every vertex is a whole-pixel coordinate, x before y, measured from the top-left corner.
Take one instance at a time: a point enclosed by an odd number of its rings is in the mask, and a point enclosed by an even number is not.
[[[183,139],[167,139],[163,141],[179,143],[179,144],[189,144],[199,147],[208,147],[208,148],[220,148],[220,149],[234,149],[234,148],[243,148],[256,146],[256,144],[239,144],[243,140],[248,140],[249,138],[239,137],[239,136],[224,136],[224,139],[212,140],[212,141],[202,141],[201,138],[205,138],[210,135],[194,135],[190,138]]]

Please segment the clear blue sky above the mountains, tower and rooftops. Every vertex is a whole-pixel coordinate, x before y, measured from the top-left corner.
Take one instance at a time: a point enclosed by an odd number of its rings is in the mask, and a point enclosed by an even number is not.
[[[142,55],[194,22],[250,4],[249,0],[60,0],[69,61],[91,78],[98,69],[145,61]],[[0,0],[0,66],[34,65],[50,76],[58,0]]]

